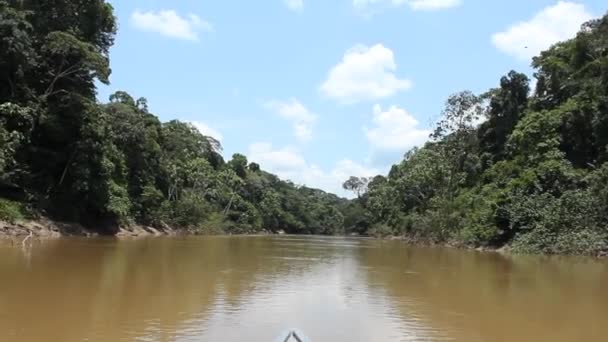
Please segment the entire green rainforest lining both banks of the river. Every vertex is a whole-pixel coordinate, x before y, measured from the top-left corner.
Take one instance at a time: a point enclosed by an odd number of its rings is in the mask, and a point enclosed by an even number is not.
[[[58,20],[61,18],[61,20]],[[0,219],[104,235],[368,235],[522,253],[608,253],[608,16],[496,87],[445,101],[428,142],[344,199],[280,179],[116,92],[112,6],[0,0]]]

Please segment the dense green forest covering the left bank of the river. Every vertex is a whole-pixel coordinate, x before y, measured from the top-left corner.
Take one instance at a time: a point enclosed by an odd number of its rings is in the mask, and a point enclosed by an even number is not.
[[[59,19],[60,18],[60,19]],[[104,0],[0,0],[0,218],[23,207],[105,233],[335,234],[344,200],[297,187],[124,92],[96,100],[116,32]],[[10,199],[10,200],[9,200]]]

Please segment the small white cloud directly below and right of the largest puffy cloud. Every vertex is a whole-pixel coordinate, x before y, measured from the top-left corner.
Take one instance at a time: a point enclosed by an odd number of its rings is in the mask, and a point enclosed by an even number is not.
[[[421,129],[418,120],[397,106],[386,111],[374,106],[374,127],[364,127],[367,140],[374,149],[406,151],[428,140],[429,130]]]

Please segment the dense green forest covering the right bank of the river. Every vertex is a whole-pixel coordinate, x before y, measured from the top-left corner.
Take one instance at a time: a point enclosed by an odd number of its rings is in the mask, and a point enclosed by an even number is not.
[[[528,77],[510,72],[481,96],[448,99],[431,141],[366,185],[358,202],[368,233],[608,252],[608,16],[533,66],[533,93]]]

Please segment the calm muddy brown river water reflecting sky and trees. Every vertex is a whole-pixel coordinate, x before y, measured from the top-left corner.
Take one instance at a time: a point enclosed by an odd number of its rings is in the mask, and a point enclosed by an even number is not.
[[[608,264],[319,237],[0,244],[0,341],[605,341]]]

